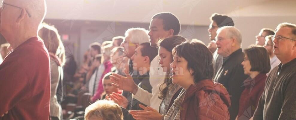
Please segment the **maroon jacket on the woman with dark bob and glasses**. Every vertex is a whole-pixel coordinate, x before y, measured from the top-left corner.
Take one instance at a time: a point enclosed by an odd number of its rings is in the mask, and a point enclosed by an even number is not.
[[[254,79],[249,77],[244,81],[242,86],[245,86],[245,89],[239,100],[239,113],[236,120],[248,120],[254,115],[266,78],[266,74],[259,74]]]

